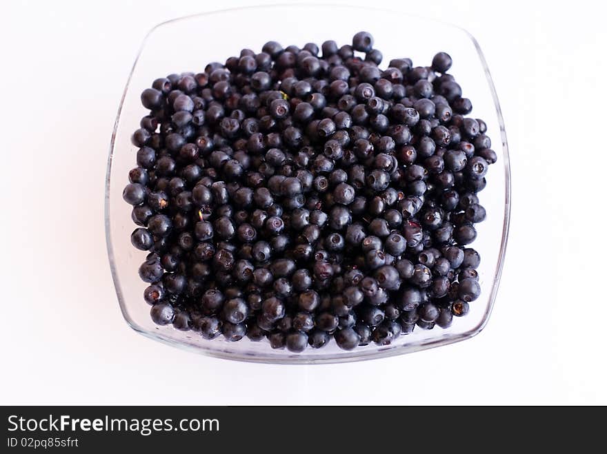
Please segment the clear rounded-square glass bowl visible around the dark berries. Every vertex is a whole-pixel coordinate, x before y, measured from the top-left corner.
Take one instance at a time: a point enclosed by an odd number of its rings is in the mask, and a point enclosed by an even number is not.
[[[489,169],[488,185],[480,194],[487,218],[479,223],[472,247],[481,254],[479,282],[481,296],[470,303],[470,312],[455,318],[448,329],[415,331],[400,336],[388,346],[370,344],[344,351],[331,341],[322,349],[302,353],[275,350],[268,340],[252,342],[243,338],[228,342],[223,336],[205,340],[195,331],[178,331],[171,325],[160,327],[150,319],[150,307],[143,301],[147,284],[137,269],[146,253],[130,244],[135,229],[131,207],[122,200],[128,171],[135,167],[136,147],[130,136],[139,127],[146,110],[139,95],[157,77],[172,72],[201,72],[211,61],[226,61],[241,48],[259,52],[266,41],[283,46],[303,46],[310,41],[334,39],[339,45],[351,43],[355,32],[366,30],[375,37],[375,47],[390,59],[410,57],[414,65],[430,65],[439,51],[452,56],[453,74],[472,101],[473,116],[483,118],[498,161]],[[501,142],[501,147],[500,147]],[[126,322],[144,336],[176,347],[219,358],[255,362],[326,363],[368,360],[410,353],[450,344],[475,336],[490,316],[504,264],[510,214],[510,166],[506,132],[497,95],[477,41],[466,30],[399,12],[342,6],[270,6],[223,10],[174,19],[157,25],[143,40],[120,102],[108,159],[106,180],[106,239],[108,256],[118,301]]]

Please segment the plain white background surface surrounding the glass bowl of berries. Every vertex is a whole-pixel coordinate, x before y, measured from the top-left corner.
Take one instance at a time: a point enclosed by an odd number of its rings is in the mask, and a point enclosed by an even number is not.
[[[590,1],[381,3],[467,28],[492,70],[513,211],[479,336],[304,367],[206,358],[128,328],[103,234],[110,134],[152,25],[245,4],[205,3],[3,6],[0,403],[607,404],[607,34]]]

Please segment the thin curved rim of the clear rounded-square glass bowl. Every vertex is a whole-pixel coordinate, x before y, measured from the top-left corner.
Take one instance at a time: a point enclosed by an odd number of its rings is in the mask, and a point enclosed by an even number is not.
[[[160,332],[155,333],[153,331],[148,331],[147,329],[144,329],[144,328],[140,327],[137,323],[135,323],[135,321],[132,320],[130,318],[130,316],[128,315],[128,311],[126,309],[126,302],[123,297],[120,279],[119,279],[118,271],[117,271],[117,267],[116,267],[114,246],[112,243],[112,234],[111,234],[111,226],[110,226],[111,225],[111,223],[110,223],[110,180],[111,180],[112,163],[113,163],[115,146],[116,146],[117,131],[118,131],[118,127],[119,127],[119,122],[120,122],[120,118],[121,118],[124,101],[126,99],[126,95],[128,93],[128,89],[130,87],[132,75],[135,72],[135,68],[137,67],[137,63],[139,62],[139,57],[141,56],[141,53],[143,52],[143,48],[145,48],[145,46],[146,46],[148,38],[157,29],[162,28],[163,26],[166,26],[166,25],[170,25],[172,23],[179,22],[179,21],[197,19],[199,17],[211,16],[213,14],[241,12],[241,11],[247,11],[247,10],[275,10],[275,9],[279,9],[279,8],[292,8],[292,7],[319,8],[319,9],[338,8],[341,10],[366,10],[366,11],[373,11],[373,12],[386,12],[388,14],[398,14],[399,16],[402,16],[402,17],[414,17],[414,18],[421,19],[424,21],[441,23],[450,28],[460,30],[461,32],[464,32],[464,34],[468,37],[468,39],[470,39],[470,41],[472,41],[472,45],[474,46],[475,50],[477,51],[477,55],[481,62],[481,66],[483,67],[486,82],[488,83],[489,91],[491,93],[492,101],[493,101],[493,104],[495,107],[495,112],[497,115],[497,122],[499,125],[499,134],[500,134],[500,138],[501,138],[501,148],[502,148],[502,152],[503,152],[503,160],[504,160],[503,165],[504,165],[504,176],[505,176],[505,185],[506,185],[506,187],[504,188],[505,189],[505,192],[504,192],[504,196],[505,196],[505,198],[504,198],[504,223],[502,225],[501,242],[500,242],[500,247],[499,247],[497,267],[495,269],[496,270],[495,277],[492,282],[491,291],[490,291],[490,295],[488,298],[488,304],[487,304],[485,313],[483,314],[483,317],[481,318],[480,322],[472,329],[462,332],[462,333],[457,333],[457,334],[450,333],[448,336],[429,338],[427,340],[424,340],[422,342],[419,342],[419,343],[413,344],[413,345],[404,344],[402,346],[397,346],[397,347],[388,347],[384,351],[382,351],[380,349],[380,350],[375,350],[372,352],[356,352],[354,350],[354,351],[348,351],[347,353],[343,353],[339,356],[321,357],[321,358],[309,358],[309,357],[308,358],[306,358],[306,357],[298,358],[297,355],[295,355],[295,354],[285,356],[283,358],[280,358],[280,357],[269,358],[269,357],[257,357],[254,355],[247,355],[247,354],[243,354],[243,353],[235,353],[235,352],[230,352],[230,351],[210,350],[210,349],[205,349],[205,348],[201,348],[201,347],[195,347],[190,344],[179,342],[168,336],[164,336],[163,333],[160,333]],[[455,342],[460,342],[461,340],[466,340],[466,339],[472,338],[472,337],[476,336],[478,333],[480,333],[486,327],[486,324],[488,323],[488,320],[492,313],[493,307],[495,305],[495,298],[497,296],[497,290],[499,289],[499,284],[501,282],[501,274],[504,269],[504,261],[506,258],[506,247],[508,244],[508,234],[510,231],[510,214],[511,214],[511,205],[512,205],[511,198],[512,198],[512,189],[511,189],[510,153],[509,153],[509,147],[508,147],[508,140],[507,140],[507,136],[506,136],[506,127],[504,126],[504,116],[501,112],[501,105],[499,104],[499,99],[497,97],[497,92],[495,90],[495,84],[493,82],[490,70],[488,68],[484,52],[481,50],[481,47],[480,47],[477,39],[470,32],[468,32],[468,30],[466,30],[465,28],[463,28],[459,25],[450,23],[448,21],[442,21],[440,19],[424,17],[422,15],[411,14],[409,12],[402,12],[402,11],[394,10],[391,8],[367,7],[367,6],[358,6],[358,5],[348,6],[348,5],[343,5],[343,4],[338,5],[335,3],[308,3],[308,2],[299,3],[298,2],[298,3],[273,3],[273,4],[268,4],[268,5],[254,5],[254,6],[243,6],[243,7],[237,7],[237,8],[223,8],[223,9],[219,9],[219,10],[210,10],[207,12],[188,14],[186,16],[168,19],[166,21],[157,23],[157,25],[154,25],[152,28],[150,28],[150,30],[146,33],[145,37],[143,37],[143,40],[141,41],[141,45],[139,45],[139,50],[137,51],[137,55],[135,56],[135,61],[133,62],[130,72],[128,74],[126,85],[124,87],[124,90],[123,90],[123,93],[122,93],[122,96],[120,99],[116,119],[114,122],[112,136],[110,139],[108,164],[106,167],[105,191],[104,191],[105,200],[104,200],[104,213],[103,214],[104,214],[104,220],[105,220],[106,248],[107,248],[107,252],[108,252],[108,261],[110,264],[112,281],[114,282],[114,287],[115,287],[116,295],[118,298],[119,306],[120,306],[121,313],[122,313],[124,320],[126,321],[128,326],[130,326],[137,333],[140,333],[142,336],[145,336],[146,338],[156,340],[163,344],[171,345],[172,347],[176,347],[176,348],[183,349],[186,351],[193,351],[195,353],[199,353],[201,355],[205,355],[205,356],[209,356],[209,357],[213,357],[213,358],[221,358],[221,359],[235,360],[235,361],[242,361],[242,362],[257,362],[257,363],[265,363],[265,364],[335,364],[335,363],[341,363],[341,362],[358,362],[358,361],[366,361],[366,360],[375,360],[375,359],[379,359],[379,358],[388,358],[391,356],[402,355],[404,353],[413,353],[415,351],[421,351],[421,350],[431,349],[431,348],[435,348],[435,347],[441,347],[443,345],[448,345],[448,344],[452,344]],[[406,351],[403,351],[404,347],[406,347]]]

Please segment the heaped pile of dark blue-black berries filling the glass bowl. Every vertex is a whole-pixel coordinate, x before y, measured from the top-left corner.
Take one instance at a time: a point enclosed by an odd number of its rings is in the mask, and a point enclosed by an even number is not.
[[[479,297],[496,161],[448,74],[352,45],[270,41],[143,91],[123,192],[157,324],[301,352],[446,328]]]

